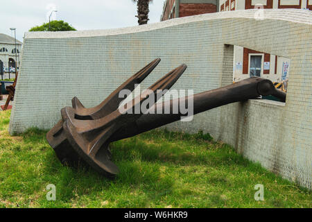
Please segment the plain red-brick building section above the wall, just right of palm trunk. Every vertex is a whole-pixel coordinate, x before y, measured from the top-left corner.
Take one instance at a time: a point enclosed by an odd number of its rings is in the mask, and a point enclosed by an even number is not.
[[[160,20],[218,12],[218,8],[218,0],[167,0]]]

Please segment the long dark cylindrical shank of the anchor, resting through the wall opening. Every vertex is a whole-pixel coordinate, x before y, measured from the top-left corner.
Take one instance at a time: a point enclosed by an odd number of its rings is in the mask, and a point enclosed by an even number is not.
[[[246,80],[241,80],[238,83],[233,83],[225,87],[193,95],[193,114],[198,114],[229,103],[256,99],[260,95],[266,96],[268,94],[273,94],[284,101],[286,94],[284,92],[277,91],[278,90],[275,89],[270,80],[263,78],[248,78]],[[183,98],[185,99],[185,104],[189,104],[190,98],[190,96]],[[151,108],[154,110],[156,109],[154,114],[143,114],[139,119],[137,119],[137,121],[135,121],[135,123],[128,124],[127,126],[116,131],[116,133],[114,133],[110,138],[110,141],[113,142],[119,139],[132,137],[139,133],[144,133],[148,130],[158,128],[159,126],[164,126],[168,123],[180,120],[181,117],[186,116],[185,114],[181,114],[180,108],[177,114],[164,113],[166,106],[170,106],[170,110],[173,110],[173,105],[177,104],[178,100],[179,99],[171,100],[170,103],[166,103],[165,101],[163,103],[155,104]],[[162,109],[160,109],[162,112],[157,114],[156,111],[159,110],[159,105],[162,106]]]

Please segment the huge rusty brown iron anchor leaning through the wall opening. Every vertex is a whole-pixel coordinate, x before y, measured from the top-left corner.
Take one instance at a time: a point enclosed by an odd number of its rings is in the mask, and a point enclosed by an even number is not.
[[[164,126],[185,115],[181,110],[170,114],[129,112],[137,106],[140,107],[151,94],[157,99],[150,109],[172,110],[173,104],[180,103],[182,100],[187,103],[192,99],[193,114],[229,103],[256,99],[261,95],[276,96],[281,101],[286,99],[286,94],[276,89],[270,80],[255,77],[192,96],[156,103],[163,95],[159,89],[170,89],[187,69],[186,65],[180,65],[160,78],[140,96],[126,103],[125,112],[120,112],[119,105],[123,98],[119,97],[119,92],[123,89],[130,91],[135,89],[135,85],[141,83],[159,62],[159,58],[150,62],[94,108],[85,108],[76,97],[72,99],[72,108],[62,108],[62,119],[46,134],[46,139],[62,164],[75,166],[79,162],[84,162],[108,177],[119,173],[118,167],[111,161],[112,154],[109,149],[111,142]]]

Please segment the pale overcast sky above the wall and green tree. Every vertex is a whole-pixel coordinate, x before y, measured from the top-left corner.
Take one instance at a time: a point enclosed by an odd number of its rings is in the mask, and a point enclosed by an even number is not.
[[[159,22],[164,0],[150,4],[148,23]],[[1,1],[0,33],[11,35],[17,28],[17,39],[23,41],[30,28],[49,22],[64,20],[77,30],[121,28],[137,26],[137,6],[132,0],[10,0]]]

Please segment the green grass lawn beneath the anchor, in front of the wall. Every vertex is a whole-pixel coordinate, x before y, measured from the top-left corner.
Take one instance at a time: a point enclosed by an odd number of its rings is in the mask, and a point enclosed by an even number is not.
[[[209,135],[153,130],[112,144],[121,173],[108,180],[92,169],[63,167],[31,129],[8,134],[0,112],[0,207],[311,207],[311,191],[275,176]],[[46,186],[56,200],[46,200]],[[254,200],[254,185],[264,200]]]

